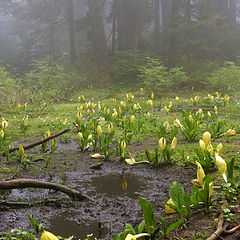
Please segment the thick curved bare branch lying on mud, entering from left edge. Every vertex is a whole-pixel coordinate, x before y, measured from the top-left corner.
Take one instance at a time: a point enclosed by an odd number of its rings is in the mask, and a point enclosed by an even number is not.
[[[81,194],[77,190],[74,190],[72,188],[66,187],[61,184],[52,183],[52,182],[44,182],[40,180],[35,179],[27,179],[27,178],[21,178],[21,179],[15,179],[15,180],[9,180],[9,181],[0,181],[0,189],[3,190],[9,190],[9,189],[16,189],[16,188],[47,188],[47,189],[53,189],[56,191],[60,191],[63,193],[66,193],[68,196],[72,198],[77,198],[79,200],[91,200],[86,195]]]

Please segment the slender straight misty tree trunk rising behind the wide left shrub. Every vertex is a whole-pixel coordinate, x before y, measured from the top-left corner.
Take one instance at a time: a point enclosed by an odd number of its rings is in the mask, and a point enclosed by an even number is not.
[[[67,21],[68,21],[68,35],[70,47],[70,62],[75,62],[75,30],[74,30],[74,16],[73,16],[73,0],[67,1]]]

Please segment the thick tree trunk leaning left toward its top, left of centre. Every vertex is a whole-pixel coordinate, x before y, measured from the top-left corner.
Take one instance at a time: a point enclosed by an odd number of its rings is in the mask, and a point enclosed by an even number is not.
[[[109,56],[102,20],[101,3],[99,0],[88,0],[88,4],[92,27],[92,37],[98,66],[97,85],[99,87],[103,87],[103,85],[109,79]]]

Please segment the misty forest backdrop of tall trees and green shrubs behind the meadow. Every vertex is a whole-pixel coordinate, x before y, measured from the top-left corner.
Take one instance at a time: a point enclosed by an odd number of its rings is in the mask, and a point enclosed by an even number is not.
[[[0,97],[237,90],[239,11],[239,0],[1,0]]]

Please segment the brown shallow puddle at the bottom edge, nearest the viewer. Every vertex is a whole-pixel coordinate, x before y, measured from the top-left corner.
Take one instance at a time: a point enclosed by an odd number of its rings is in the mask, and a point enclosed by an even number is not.
[[[49,231],[65,238],[73,236],[73,239],[85,239],[87,235],[93,234],[97,239],[102,239],[109,233],[109,229],[100,222],[84,222],[72,212],[54,216],[49,222]]]

